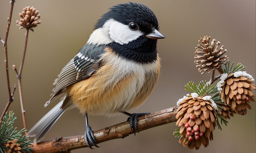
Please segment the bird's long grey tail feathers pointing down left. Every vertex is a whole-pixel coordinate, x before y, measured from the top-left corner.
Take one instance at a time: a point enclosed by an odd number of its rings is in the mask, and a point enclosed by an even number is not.
[[[42,117],[31,129],[28,131],[29,137],[34,137],[34,143],[39,142],[44,138],[44,135],[50,130],[52,125],[61,117],[67,110],[73,108],[72,104],[67,104],[63,107],[65,101],[69,101],[69,97],[64,97],[57,105],[55,105],[44,117]],[[72,103],[72,102],[68,102]]]

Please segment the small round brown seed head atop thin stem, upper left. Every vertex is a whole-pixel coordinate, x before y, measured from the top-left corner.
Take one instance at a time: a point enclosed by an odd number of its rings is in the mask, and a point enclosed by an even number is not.
[[[32,30],[31,28],[34,28],[38,24],[40,24],[41,21],[38,21],[38,19],[40,18],[40,14],[38,14],[38,12],[39,11],[36,10],[34,6],[27,6],[23,8],[23,11],[19,13],[21,19],[16,20],[16,23],[20,25],[20,29],[26,28]]]

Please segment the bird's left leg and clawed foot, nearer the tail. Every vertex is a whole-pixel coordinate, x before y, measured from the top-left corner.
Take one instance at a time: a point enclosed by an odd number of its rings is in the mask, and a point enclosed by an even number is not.
[[[90,148],[93,149],[92,146],[90,145],[90,143],[92,145],[94,145],[95,147],[99,147],[98,145],[96,145],[97,143],[97,139],[94,137],[93,135],[93,131],[92,128],[88,125],[88,116],[87,113],[84,114],[85,115],[85,133],[84,133],[84,141],[86,143],[86,145]]]

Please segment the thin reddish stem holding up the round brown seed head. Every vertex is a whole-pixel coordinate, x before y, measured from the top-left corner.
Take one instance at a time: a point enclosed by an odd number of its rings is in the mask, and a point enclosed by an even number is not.
[[[27,128],[26,128],[25,110],[24,110],[23,97],[22,97],[21,77],[22,77],[22,69],[23,69],[24,60],[25,60],[27,44],[28,44],[28,31],[29,31],[29,29],[26,29],[24,50],[23,50],[22,60],[21,60],[21,63],[20,63],[20,70],[19,70],[19,74],[18,74],[18,87],[19,87],[19,93],[20,93],[20,107],[21,107],[22,121],[23,121],[24,129],[27,129]],[[25,136],[27,136],[26,132],[25,132]]]

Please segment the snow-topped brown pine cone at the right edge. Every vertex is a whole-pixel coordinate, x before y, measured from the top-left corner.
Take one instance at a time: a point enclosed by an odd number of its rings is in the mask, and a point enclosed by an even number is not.
[[[255,95],[251,91],[256,89],[252,82],[253,78],[245,76],[248,76],[246,72],[231,73],[221,85],[222,101],[224,100],[225,105],[229,105],[232,110],[240,115],[245,115],[247,108],[252,109],[250,101],[255,102],[253,98]]]

